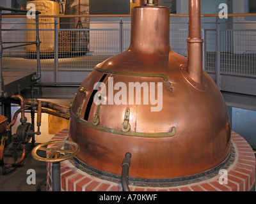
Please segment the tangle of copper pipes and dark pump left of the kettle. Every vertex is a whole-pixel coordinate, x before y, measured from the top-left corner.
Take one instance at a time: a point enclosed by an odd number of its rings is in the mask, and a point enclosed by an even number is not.
[[[20,104],[20,108],[14,113],[12,122],[8,124],[6,117],[3,115],[0,117],[0,167],[3,174],[6,174],[22,165],[26,156],[25,152],[28,143],[35,143],[35,135],[41,135],[40,126],[42,122],[42,113],[48,113],[67,120],[69,119],[68,106],[58,105],[49,101],[39,101],[38,99],[24,99],[20,95],[13,95],[10,99],[13,99],[12,103]],[[33,113],[37,112],[36,131],[33,122],[27,122],[27,118],[25,116],[26,110],[33,110]],[[17,122],[19,114],[21,115],[20,125],[18,126],[16,133],[10,136],[10,133],[12,133],[12,126]],[[5,141],[8,139],[11,140],[14,151],[17,151],[17,147],[22,149],[22,156],[19,159],[15,158],[15,162],[12,164],[4,163],[4,147],[6,147]],[[17,152],[14,152],[14,154],[17,155]]]

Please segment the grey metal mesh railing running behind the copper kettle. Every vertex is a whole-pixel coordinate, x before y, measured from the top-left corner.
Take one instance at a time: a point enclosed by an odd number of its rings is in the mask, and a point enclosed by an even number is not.
[[[228,18],[241,16],[256,15],[233,14],[228,15]],[[115,22],[90,21],[90,27],[84,26],[83,29],[63,29],[60,23],[60,18],[63,16],[50,17],[54,18],[54,24],[45,24],[48,28],[40,29],[40,40],[42,41],[40,50],[47,47],[52,48],[48,52],[40,53],[42,71],[46,73],[46,77],[42,76],[42,85],[47,83],[78,85],[84,79],[81,71],[90,73],[97,64],[108,57],[124,52],[129,47],[131,22],[125,21],[124,18],[130,17],[130,15],[88,15],[94,19],[96,17],[115,17]],[[65,17],[79,16],[67,15]],[[188,15],[171,15],[171,17],[173,18],[170,22],[170,47],[174,52],[186,56]],[[204,28],[207,26],[202,26],[202,38],[204,39],[204,69],[213,75],[212,78],[216,80],[218,87],[225,89],[223,85],[227,82],[223,82],[222,75],[243,77],[244,80],[256,78],[256,30],[229,29],[225,19],[220,20],[218,15],[202,15],[202,17],[215,19],[212,22],[202,23],[212,27],[208,29]],[[236,23],[232,22],[232,24]],[[252,27],[255,26],[255,22],[248,24],[252,24]],[[11,33],[10,29],[3,29],[3,40],[15,41],[17,35],[22,38],[26,36],[28,39],[31,31],[33,30],[19,29],[19,31],[15,31],[17,34],[12,36],[9,34]],[[26,48],[11,49],[3,53],[3,65],[6,69],[28,69],[34,66],[35,59],[33,57],[33,52],[28,52]]]

